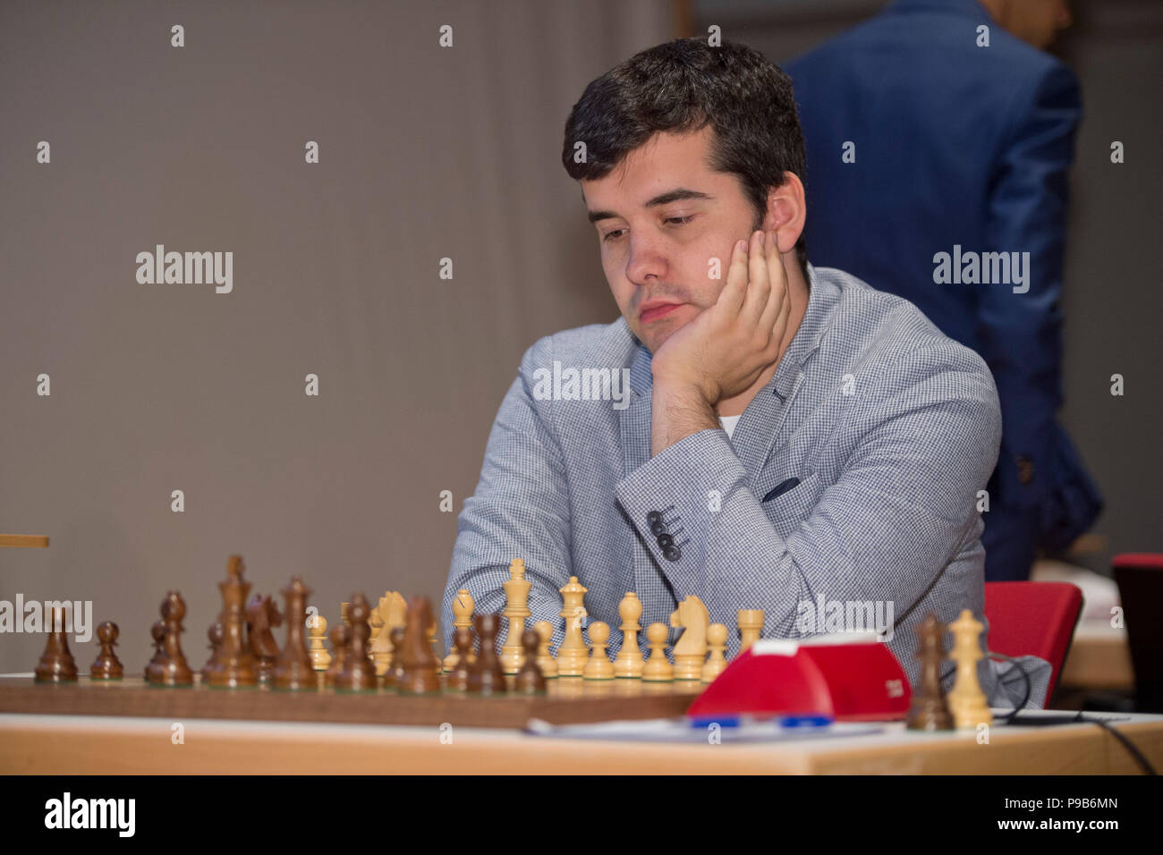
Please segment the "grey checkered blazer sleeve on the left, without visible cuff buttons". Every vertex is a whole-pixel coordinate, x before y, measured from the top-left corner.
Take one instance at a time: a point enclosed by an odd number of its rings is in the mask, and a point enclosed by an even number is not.
[[[522,558],[531,620],[561,612],[558,589],[569,579],[570,504],[562,449],[530,392],[534,365],[552,363],[550,340],[526,351],[521,369],[501,401],[485,447],[476,492],[457,519],[452,565],[441,605],[445,644],[451,647],[452,600],[466,589],[473,614],[505,608],[509,562]],[[502,621],[504,624],[504,621]],[[507,627],[501,627],[505,637]],[[561,636],[561,632],[556,633]],[[557,639],[559,640],[559,637]]]

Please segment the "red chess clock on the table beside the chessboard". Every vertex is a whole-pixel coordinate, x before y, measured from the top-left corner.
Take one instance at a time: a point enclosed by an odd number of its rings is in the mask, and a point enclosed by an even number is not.
[[[695,698],[687,715],[830,715],[836,721],[904,719],[912,690],[889,646],[854,637],[761,639]]]

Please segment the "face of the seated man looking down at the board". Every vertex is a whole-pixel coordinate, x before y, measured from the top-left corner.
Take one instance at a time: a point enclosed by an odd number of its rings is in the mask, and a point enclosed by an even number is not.
[[[713,134],[655,134],[605,178],[582,181],[609,290],[651,352],[714,305],[735,241],[759,227],[739,178],[707,165]]]

